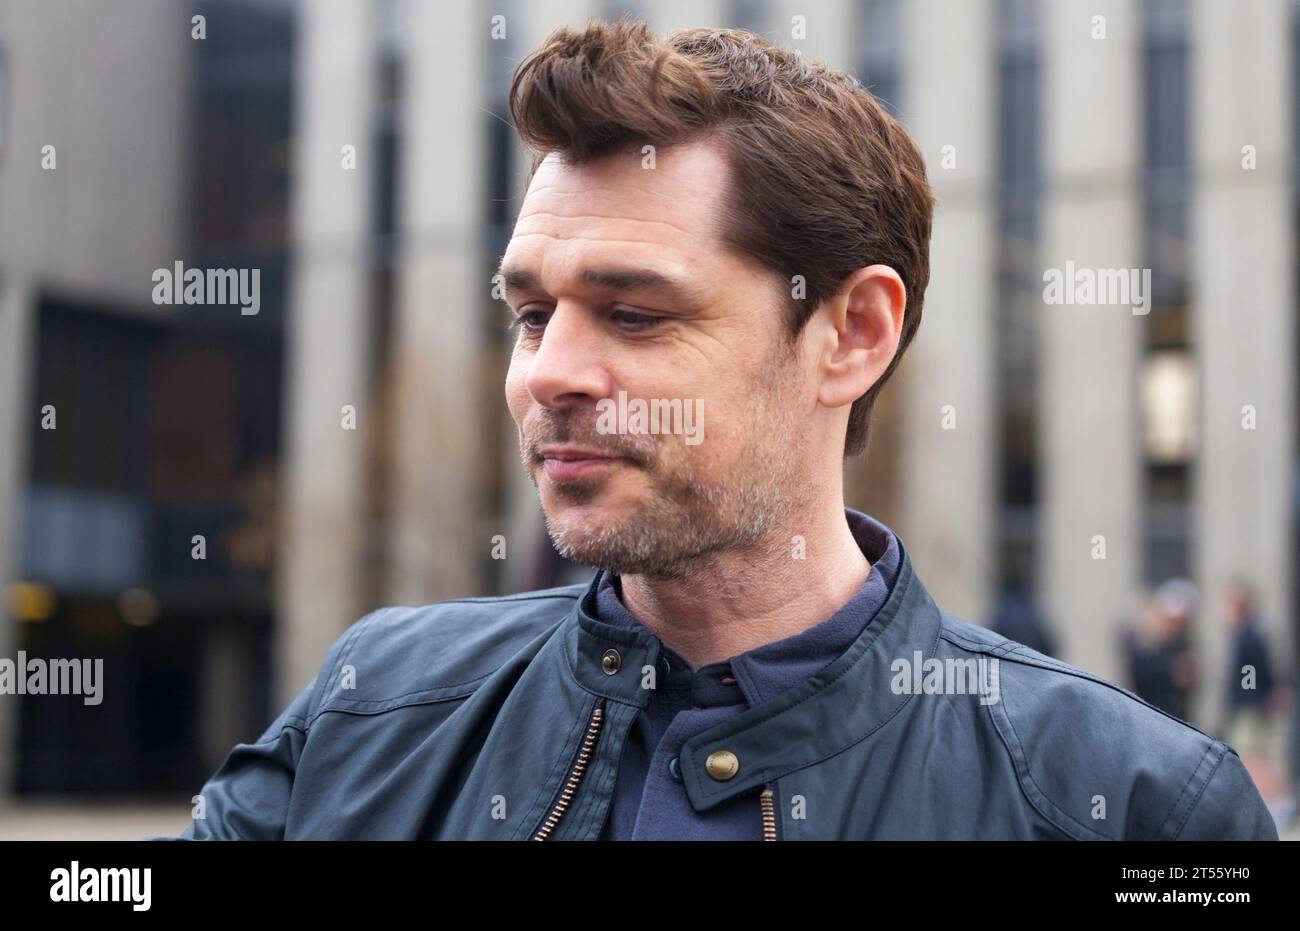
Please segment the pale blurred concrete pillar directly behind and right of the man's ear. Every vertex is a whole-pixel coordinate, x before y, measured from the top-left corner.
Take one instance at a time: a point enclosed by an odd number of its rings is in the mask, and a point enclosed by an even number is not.
[[[902,364],[894,529],[935,599],[974,623],[985,619],[997,568],[994,12],[991,0],[911,4],[904,64],[904,117],[939,205],[920,330]]]

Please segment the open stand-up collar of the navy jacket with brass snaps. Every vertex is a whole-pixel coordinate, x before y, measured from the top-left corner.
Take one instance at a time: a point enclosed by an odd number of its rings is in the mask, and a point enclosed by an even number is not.
[[[598,620],[597,573],[567,622],[566,653],[578,684],[608,700],[645,707],[650,690],[645,671],[659,658],[659,641],[649,632]],[[889,598],[871,623],[829,666],[802,684],[728,718],[688,740],[680,754],[686,794],[697,811],[766,785],[864,740],[911,698],[896,694],[890,666],[920,651],[935,655],[940,610],[916,576],[902,540],[898,571]],[[619,671],[606,672],[608,650],[619,654]],[[727,781],[708,776],[705,761],[729,750],[740,771]]]

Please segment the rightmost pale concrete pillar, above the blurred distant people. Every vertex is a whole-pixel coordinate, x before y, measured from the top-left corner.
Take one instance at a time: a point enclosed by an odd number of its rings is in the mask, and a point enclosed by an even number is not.
[[[1193,559],[1204,596],[1199,718],[1206,723],[1222,709],[1228,657],[1221,606],[1231,577],[1256,586],[1274,661],[1290,668],[1295,648],[1290,16],[1286,0],[1193,7],[1196,257],[1190,267],[1201,377]],[[1247,146],[1252,151],[1243,153]]]

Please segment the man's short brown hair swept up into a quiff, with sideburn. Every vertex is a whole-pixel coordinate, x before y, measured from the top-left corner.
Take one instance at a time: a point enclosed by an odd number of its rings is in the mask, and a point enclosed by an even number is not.
[[[920,325],[935,196],[904,127],[854,77],[744,30],[688,29],[658,40],[645,22],[560,27],[515,72],[510,112],[533,151],[581,164],[653,144],[707,139],[731,166],[723,242],[790,293],[798,337],[816,307],[864,265],[892,267],[907,293],[898,351],[854,402],[845,455],[867,446],[876,395]]]

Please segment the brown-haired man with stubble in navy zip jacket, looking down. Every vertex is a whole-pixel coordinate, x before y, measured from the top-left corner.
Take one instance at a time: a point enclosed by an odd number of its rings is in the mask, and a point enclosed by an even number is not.
[[[933,204],[867,91],[624,22],[552,34],[511,109],[506,397],[599,571],[368,615],[186,837],[1277,837],[1228,746],[945,614],[845,510]]]

